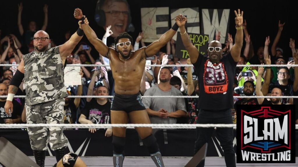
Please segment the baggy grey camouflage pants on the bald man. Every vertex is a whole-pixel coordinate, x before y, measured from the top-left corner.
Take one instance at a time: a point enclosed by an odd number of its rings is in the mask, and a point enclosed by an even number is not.
[[[27,124],[63,124],[64,104],[65,100],[62,98],[36,105],[25,105]],[[63,134],[63,127],[28,127],[27,130],[33,150],[47,150],[48,142],[52,150],[60,149],[68,143]]]

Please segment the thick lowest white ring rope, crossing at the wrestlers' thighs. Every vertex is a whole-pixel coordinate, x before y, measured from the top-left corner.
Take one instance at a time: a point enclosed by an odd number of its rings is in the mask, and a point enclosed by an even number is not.
[[[64,127],[64,128],[111,128],[152,127],[153,129],[195,129],[196,127],[236,127],[236,124],[0,124],[0,128]],[[298,129],[298,125],[296,125]]]

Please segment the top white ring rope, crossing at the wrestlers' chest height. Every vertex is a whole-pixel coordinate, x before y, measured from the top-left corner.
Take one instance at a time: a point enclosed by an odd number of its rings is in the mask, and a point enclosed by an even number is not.
[[[10,66],[18,66],[19,64],[0,64],[0,67],[10,67]],[[110,67],[109,64],[67,64],[66,66],[69,67]],[[188,64],[150,64],[145,65],[146,67],[193,67],[193,65]],[[298,67],[298,64],[244,64],[244,65],[237,65],[236,67]]]

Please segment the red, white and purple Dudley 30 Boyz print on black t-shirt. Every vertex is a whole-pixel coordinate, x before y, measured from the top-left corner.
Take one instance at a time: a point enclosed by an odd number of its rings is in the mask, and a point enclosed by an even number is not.
[[[224,93],[228,89],[228,77],[224,64],[213,64],[207,60],[204,64],[204,88],[206,93]]]

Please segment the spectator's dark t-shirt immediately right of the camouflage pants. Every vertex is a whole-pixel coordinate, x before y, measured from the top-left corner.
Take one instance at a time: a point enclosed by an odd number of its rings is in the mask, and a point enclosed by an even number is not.
[[[77,108],[74,103],[75,99],[71,98],[69,104],[63,108],[64,124],[74,124],[77,119]]]

